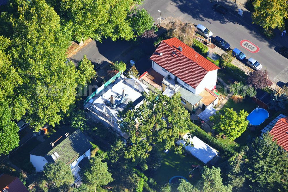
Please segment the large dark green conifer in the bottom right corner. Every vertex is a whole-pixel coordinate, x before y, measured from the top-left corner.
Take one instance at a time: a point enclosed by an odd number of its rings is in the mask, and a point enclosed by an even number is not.
[[[288,153],[268,134],[244,148],[242,171],[252,191],[288,190]]]

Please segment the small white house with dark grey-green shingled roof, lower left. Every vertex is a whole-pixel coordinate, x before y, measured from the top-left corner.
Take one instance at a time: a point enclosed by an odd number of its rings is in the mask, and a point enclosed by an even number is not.
[[[46,163],[62,161],[71,166],[73,175],[78,180],[81,167],[79,162],[85,157],[90,159],[92,145],[78,129],[63,127],[30,152],[30,162],[36,172],[43,170]]]

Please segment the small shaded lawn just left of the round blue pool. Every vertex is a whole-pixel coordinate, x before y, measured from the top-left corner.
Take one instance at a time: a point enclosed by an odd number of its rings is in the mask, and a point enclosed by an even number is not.
[[[248,113],[251,113],[256,107],[256,103],[253,101],[250,101],[248,99],[244,99],[243,102],[241,103],[234,103],[234,101],[230,98],[228,101],[225,103],[225,105],[219,110],[220,113],[224,113],[224,109],[226,108],[233,108],[234,111],[237,113],[241,110],[244,109]]]

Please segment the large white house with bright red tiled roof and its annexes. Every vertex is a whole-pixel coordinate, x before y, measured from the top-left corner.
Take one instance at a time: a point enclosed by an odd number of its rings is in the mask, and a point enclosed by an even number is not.
[[[190,46],[177,38],[163,40],[150,60],[152,69],[140,77],[142,82],[148,79],[146,82],[150,85],[161,84],[163,94],[169,96],[180,92],[182,104],[190,111],[217,105],[218,95],[213,90],[219,67]],[[156,82],[159,75],[152,77],[154,71],[164,77],[161,82]]]

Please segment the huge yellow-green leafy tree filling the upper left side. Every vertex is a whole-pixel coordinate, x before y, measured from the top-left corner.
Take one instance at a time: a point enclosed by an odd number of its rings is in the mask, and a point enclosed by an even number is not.
[[[11,0],[0,19],[0,32],[11,39],[9,54],[23,81],[14,89],[24,101],[13,104],[20,109],[16,118],[25,113],[35,131],[58,124],[75,102],[75,87],[83,84],[74,64],[64,63],[70,38],[59,16],[44,0]]]

